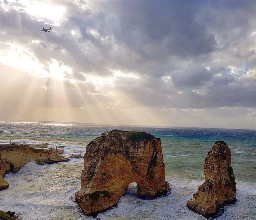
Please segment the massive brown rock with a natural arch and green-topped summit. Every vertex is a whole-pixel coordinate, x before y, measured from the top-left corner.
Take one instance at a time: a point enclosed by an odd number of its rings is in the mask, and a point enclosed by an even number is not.
[[[145,132],[103,133],[86,147],[81,182],[75,199],[87,215],[115,206],[133,182],[139,198],[169,195],[161,139]]]

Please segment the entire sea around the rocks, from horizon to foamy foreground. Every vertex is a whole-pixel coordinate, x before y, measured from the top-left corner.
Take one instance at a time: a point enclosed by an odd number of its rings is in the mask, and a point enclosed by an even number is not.
[[[154,200],[137,198],[136,183],[128,187],[117,207],[98,215],[101,220],[204,220],[186,202],[204,180],[204,159],[215,141],[231,149],[237,183],[237,202],[226,205],[216,220],[256,219],[256,130],[143,127],[86,123],[0,122],[0,142],[47,143],[64,146],[64,156],[82,154],[86,145],[113,129],[144,131],[162,140],[169,196]],[[9,188],[0,191],[0,209],[23,213],[23,220],[87,220],[75,202],[80,188],[83,158],[51,165],[26,164],[8,173]]]

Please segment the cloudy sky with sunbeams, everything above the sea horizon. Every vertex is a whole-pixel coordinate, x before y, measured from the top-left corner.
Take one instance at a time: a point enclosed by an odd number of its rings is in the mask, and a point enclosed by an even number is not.
[[[256,129],[255,11],[1,0],[0,120]]]

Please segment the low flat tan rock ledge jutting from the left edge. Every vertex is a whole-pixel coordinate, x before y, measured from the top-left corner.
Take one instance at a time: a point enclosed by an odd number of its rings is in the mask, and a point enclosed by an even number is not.
[[[0,190],[9,187],[4,179],[6,173],[17,172],[31,161],[37,164],[52,164],[70,161],[70,159],[61,156],[58,150],[36,149],[26,144],[0,144]]]

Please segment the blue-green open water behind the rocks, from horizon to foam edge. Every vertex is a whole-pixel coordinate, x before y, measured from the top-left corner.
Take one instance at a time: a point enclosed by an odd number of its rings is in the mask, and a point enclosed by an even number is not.
[[[1,122],[1,141],[41,142],[86,146],[113,129],[145,131],[162,140],[167,176],[204,178],[204,159],[215,141],[225,141],[232,152],[237,180],[256,183],[256,131],[212,128],[152,128],[90,124]]]

